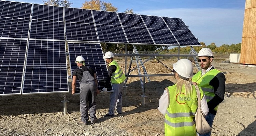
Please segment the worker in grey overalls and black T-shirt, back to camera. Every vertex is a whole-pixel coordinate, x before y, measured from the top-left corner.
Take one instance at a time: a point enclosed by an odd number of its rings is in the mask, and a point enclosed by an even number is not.
[[[93,68],[85,66],[85,60],[82,56],[77,56],[75,59],[77,69],[74,70],[72,74],[72,95],[75,93],[76,80],[79,80],[80,83],[80,112],[81,112],[81,121],[79,124],[87,125],[88,109],[91,123],[97,122],[96,117],[96,95],[100,93],[97,89],[98,83],[96,80],[96,72]],[[89,104],[87,105],[87,102]]]

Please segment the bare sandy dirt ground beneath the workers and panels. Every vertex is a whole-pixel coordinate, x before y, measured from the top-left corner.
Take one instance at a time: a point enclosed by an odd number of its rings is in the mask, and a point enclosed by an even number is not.
[[[118,62],[124,69],[124,61]],[[162,63],[172,68],[174,61]],[[132,66],[135,65],[133,62]],[[214,119],[212,136],[255,136],[256,67],[217,62],[213,65],[226,72],[226,95]],[[145,68],[148,74],[170,73],[160,63],[147,62]],[[142,106],[141,82],[139,78],[129,78],[127,94],[123,95],[123,114],[111,118],[103,117],[108,112],[110,94],[99,94],[96,113],[99,120],[89,125],[77,124],[79,95],[71,92],[67,93],[66,115],[61,94],[0,96],[0,136],[164,136],[164,116],[157,109],[158,102],[174,78],[150,77],[150,80],[146,83],[147,97]]]

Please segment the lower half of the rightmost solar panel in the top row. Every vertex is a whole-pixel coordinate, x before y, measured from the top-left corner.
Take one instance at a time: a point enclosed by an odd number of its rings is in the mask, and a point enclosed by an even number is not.
[[[201,46],[197,38],[190,31],[172,30],[180,45],[197,45]]]

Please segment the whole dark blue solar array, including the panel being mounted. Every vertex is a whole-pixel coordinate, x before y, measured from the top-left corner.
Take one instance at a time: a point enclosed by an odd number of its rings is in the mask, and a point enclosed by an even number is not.
[[[0,95],[68,92],[68,42],[70,59],[82,55],[96,70],[99,89],[107,77],[99,43],[201,46],[179,18],[0,0]]]

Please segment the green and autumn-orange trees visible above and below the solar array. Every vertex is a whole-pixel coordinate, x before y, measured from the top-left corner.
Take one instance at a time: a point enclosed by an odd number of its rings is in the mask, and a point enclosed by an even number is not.
[[[72,3],[70,3],[68,0],[46,0],[44,1],[45,5],[55,5],[55,6],[65,6],[65,7],[71,7]],[[110,2],[105,2],[102,0],[89,0],[85,1],[81,8],[84,9],[91,9],[91,10],[101,10],[101,11],[111,11],[111,12],[117,12],[118,8],[115,7]],[[133,13],[133,9],[127,8],[123,13]],[[228,53],[240,53],[241,50],[241,43],[239,44],[231,44],[226,45],[223,44],[220,47],[217,47],[215,43],[211,43],[210,45],[206,46],[205,43],[200,42],[202,46],[200,47],[193,47],[197,52],[199,52],[200,49],[204,47],[210,48],[213,52],[228,52]],[[157,51],[162,50],[166,46],[161,45],[135,45],[137,46],[138,51]],[[111,43],[101,43],[102,50],[105,51],[124,51],[125,50],[125,44],[111,44]],[[166,49],[166,52],[172,52],[177,53],[178,47],[172,48],[172,49]],[[133,51],[133,45],[127,46],[128,51]],[[190,47],[180,47],[180,53],[188,53],[190,51]]]

